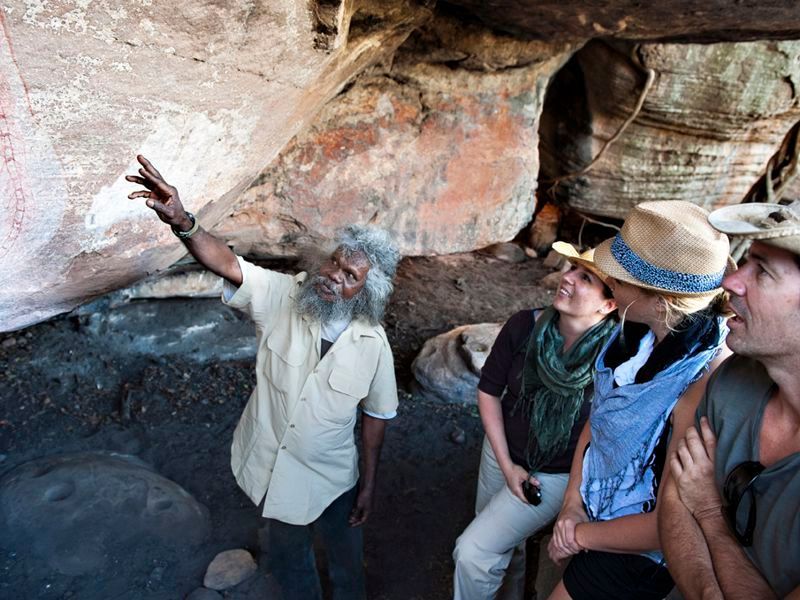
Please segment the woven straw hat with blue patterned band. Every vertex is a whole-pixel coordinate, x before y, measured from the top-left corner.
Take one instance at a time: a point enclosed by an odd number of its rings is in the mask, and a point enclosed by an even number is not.
[[[594,263],[607,276],[673,296],[720,291],[736,265],[728,237],[708,223],[708,211],[680,200],[642,202],[622,230],[600,244]]]

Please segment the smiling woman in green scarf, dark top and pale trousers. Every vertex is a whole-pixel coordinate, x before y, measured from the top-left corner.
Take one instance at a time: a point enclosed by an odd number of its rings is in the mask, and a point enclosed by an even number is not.
[[[476,517],[453,553],[456,600],[522,598],[525,540],[561,507],[589,415],[595,359],[616,325],[593,250],[553,248],[570,261],[553,305],[508,320],[478,384],[486,438]]]

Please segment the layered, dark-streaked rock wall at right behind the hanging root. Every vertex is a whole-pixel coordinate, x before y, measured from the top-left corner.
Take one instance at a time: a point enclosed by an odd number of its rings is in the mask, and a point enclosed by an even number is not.
[[[632,114],[645,76],[631,51],[591,42],[559,74],[542,117],[546,179],[586,166]],[[655,71],[641,112],[557,197],[618,218],[643,200],[739,202],[800,118],[800,42],[645,44],[637,53]]]

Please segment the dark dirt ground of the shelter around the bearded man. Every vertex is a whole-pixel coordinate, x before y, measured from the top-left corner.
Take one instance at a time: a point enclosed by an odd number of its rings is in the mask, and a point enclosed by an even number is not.
[[[365,526],[370,598],[451,597],[453,542],[473,510],[482,439],[477,410],[471,399],[446,405],[414,396],[411,361],[425,340],[455,326],[502,321],[546,304],[549,292],[539,281],[548,272],[539,260],[511,264],[478,253],[402,262],[386,316],[400,409],[387,430],[376,508]],[[165,329],[188,331],[213,319],[232,336],[252,336],[244,317],[208,299],[134,302],[0,336],[0,486],[38,457],[113,451],[152,465],[211,518],[200,547],[180,539],[112,545],[103,550],[107,568],[78,576],[54,571],[28,540],[0,528],[0,597],[184,598],[202,585],[218,552],[246,548],[259,556],[258,511],[229,467],[254,357],[226,358],[214,352],[216,344],[199,353],[137,345]],[[459,430],[463,443],[453,441]],[[47,518],[43,512],[37,526],[47,527]],[[267,598],[270,585],[260,571],[224,597]]]

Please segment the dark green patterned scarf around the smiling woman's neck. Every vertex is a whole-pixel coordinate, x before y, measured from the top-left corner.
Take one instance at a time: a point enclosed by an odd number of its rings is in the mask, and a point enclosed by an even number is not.
[[[594,363],[617,326],[607,318],[583,332],[561,354],[564,338],[559,314],[552,306],[536,320],[528,340],[522,389],[514,411],[522,408],[530,421],[527,460],[533,473],[567,449],[570,432],[584,401],[584,390],[594,377]]]

